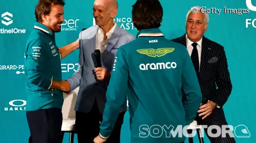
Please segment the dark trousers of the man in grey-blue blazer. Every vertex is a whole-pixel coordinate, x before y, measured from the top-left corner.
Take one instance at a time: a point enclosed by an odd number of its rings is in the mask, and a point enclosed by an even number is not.
[[[114,129],[107,143],[120,143],[120,132],[124,121],[125,112],[118,116]],[[76,130],[78,143],[93,143],[93,139],[100,133],[100,122],[102,114],[100,113],[97,102],[93,104],[92,110],[88,113],[76,111]]]

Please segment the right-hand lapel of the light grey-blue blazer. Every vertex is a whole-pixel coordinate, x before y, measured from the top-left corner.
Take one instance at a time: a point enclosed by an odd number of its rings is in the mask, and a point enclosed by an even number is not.
[[[121,28],[119,26],[116,26],[114,32],[112,33],[112,35],[109,39],[109,42],[107,42],[107,46],[106,46],[104,52],[102,53],[102,58],[101,58],[102,61],[107,56],[107,54],[111,51],[111,49],[114,47],[117,40],[119,40],[120,35],[121,35]]]

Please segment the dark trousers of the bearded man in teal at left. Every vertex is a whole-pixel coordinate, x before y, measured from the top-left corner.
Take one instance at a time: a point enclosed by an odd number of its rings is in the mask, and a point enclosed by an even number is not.
[[[62,112],[51,108],[27,111],[27,121],[33,143],[61,143]]]

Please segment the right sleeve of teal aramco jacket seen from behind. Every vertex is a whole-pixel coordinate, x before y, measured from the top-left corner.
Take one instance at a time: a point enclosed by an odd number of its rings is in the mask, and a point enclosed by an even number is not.
[[[185,51],[185,48],[184,53],[187,54],[184,54],[185,56],[183,58],[182,86],[186,95],[186,102],[183,106],[185,110],[186,124],[189,125],[194,121],[196,113],[199,110],[202,94],[195,68],[188,51]]]

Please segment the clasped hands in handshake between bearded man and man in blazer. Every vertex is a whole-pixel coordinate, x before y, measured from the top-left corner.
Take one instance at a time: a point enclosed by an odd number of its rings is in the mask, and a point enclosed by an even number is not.
[[[65,81],[65,80],[53,81],[51,88],[52,89],[59,89],[62,92],[65,92],[67,94],[69,94],[71,92],[70,83],[68,81]]]

